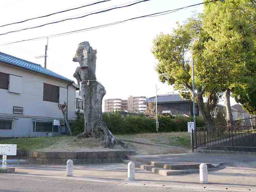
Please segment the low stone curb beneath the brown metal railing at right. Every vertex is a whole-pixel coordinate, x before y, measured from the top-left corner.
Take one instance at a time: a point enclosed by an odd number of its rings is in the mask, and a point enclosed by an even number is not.
[[[256,156],[256,152],[250,152],[250,151],[227,151],[227,150],[202,150],[202,149],[195,149],[194,153],[210,153],[210,154],[220,154],[220,155]]]

